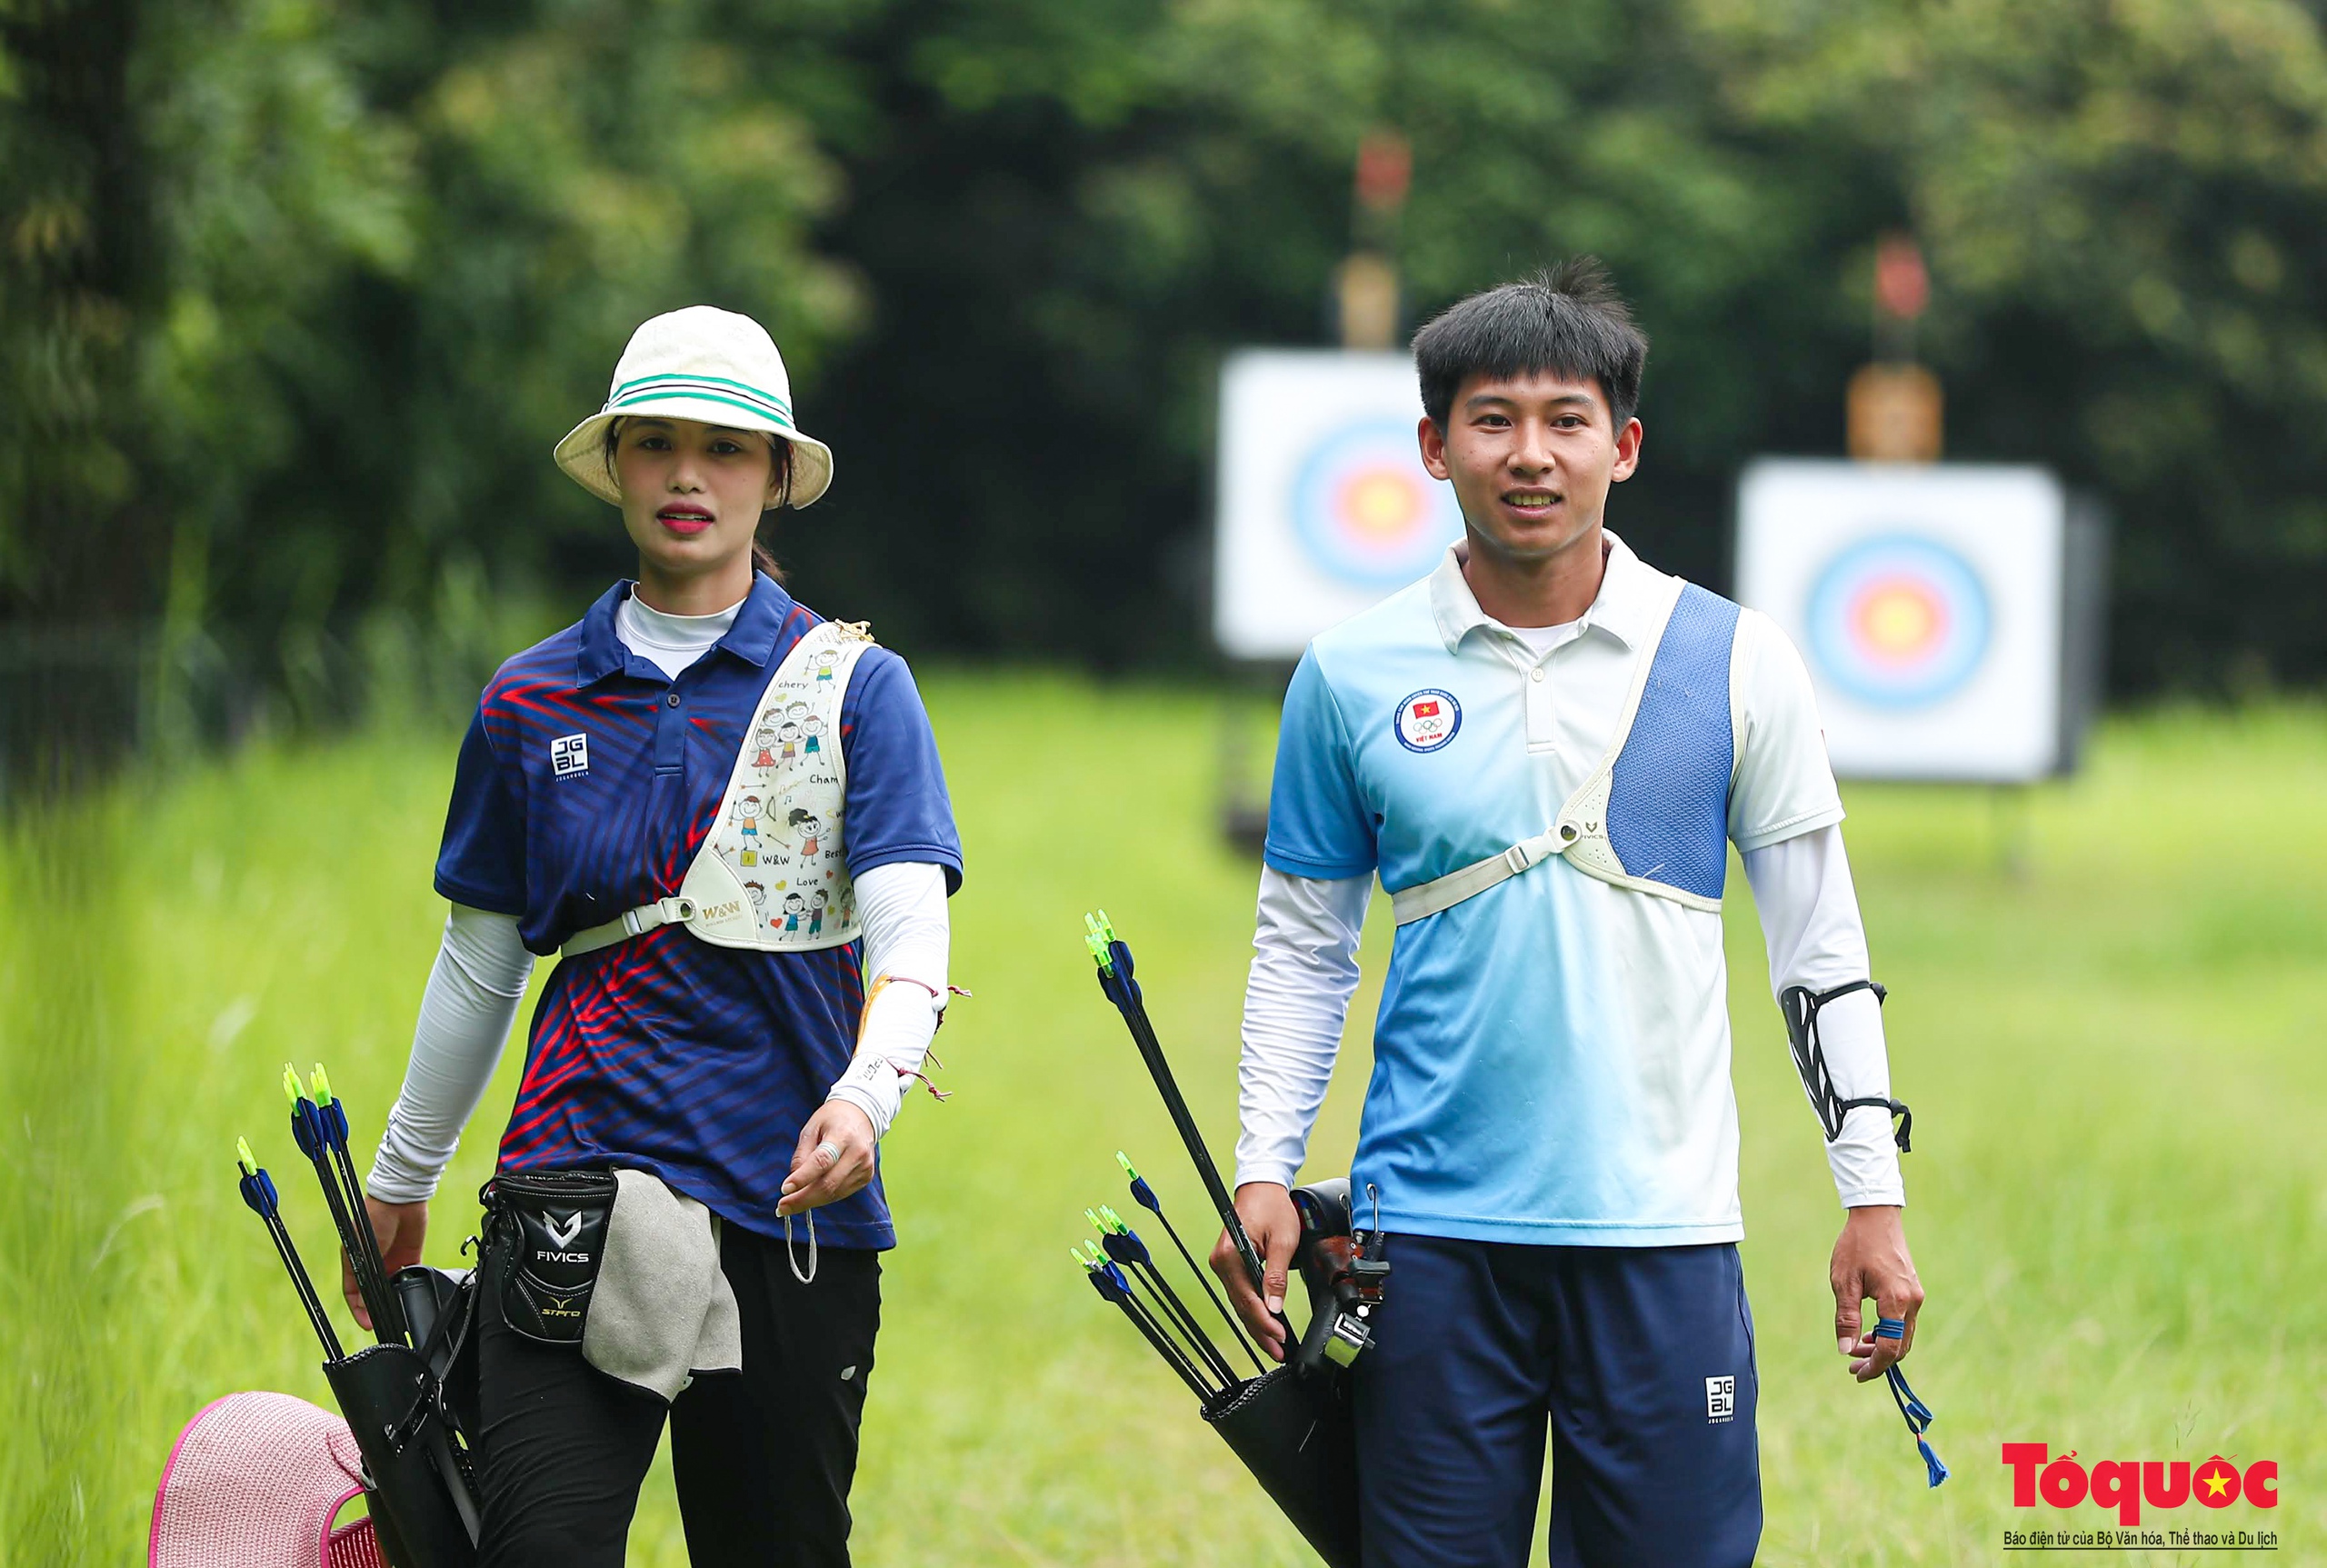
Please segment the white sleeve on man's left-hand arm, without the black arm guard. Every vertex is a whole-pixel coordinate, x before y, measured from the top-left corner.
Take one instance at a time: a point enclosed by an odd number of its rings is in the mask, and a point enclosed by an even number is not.
[[[1236,1179],[1294,1184],[1333,1079],[1357,991],[1357,938],[1373,877],[1287,877],[1261,868],[1236,1065]]]

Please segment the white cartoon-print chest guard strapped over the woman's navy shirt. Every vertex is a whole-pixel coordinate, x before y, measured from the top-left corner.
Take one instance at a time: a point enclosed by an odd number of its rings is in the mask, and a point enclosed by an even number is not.
[[[854,942],[861,926],[842,856],[840,705],[868,647],[863,621],[824,621],[800,637],[759,698],[719,817],[677,896],[577,931],[558,952],[572,958],[673,924],[717,947],[812,952]]]

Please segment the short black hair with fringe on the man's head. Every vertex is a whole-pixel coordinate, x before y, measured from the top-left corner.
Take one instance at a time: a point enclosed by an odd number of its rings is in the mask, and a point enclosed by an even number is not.
[[[1515,284],[1447,305],[1415,333],[1422,412],[1440,430],[1464,379],[1559,375],[1596,379],[1622,430],[1641,407],[1648,335],[1615,291],[1599,256],[1575,256]]]

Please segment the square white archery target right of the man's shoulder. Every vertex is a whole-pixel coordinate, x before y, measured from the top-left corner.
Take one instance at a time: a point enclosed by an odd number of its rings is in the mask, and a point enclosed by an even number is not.
[[[2055,768],[2064,514],[2036,468],[1748,468],[1738,598],[1801,651],[1838,775],[2001,784]]]

